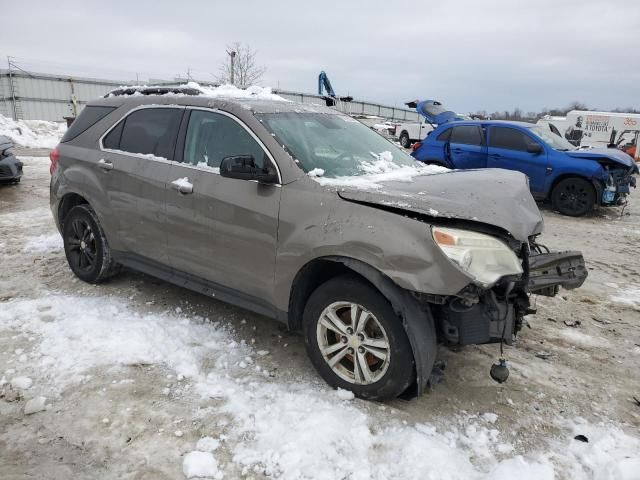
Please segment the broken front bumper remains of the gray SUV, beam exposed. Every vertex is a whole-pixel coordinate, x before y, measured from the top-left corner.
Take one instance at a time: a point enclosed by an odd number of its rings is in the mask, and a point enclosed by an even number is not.
[[[504,279],[489,290],[471,288],[442,299],[435,308],[441,338],[455,345],[511,344],[525,315],[535,313],[530,294],[555,296],[560,287],[580,287],[588,274],[580,252],[525,254],[523,266],[520,279]]]

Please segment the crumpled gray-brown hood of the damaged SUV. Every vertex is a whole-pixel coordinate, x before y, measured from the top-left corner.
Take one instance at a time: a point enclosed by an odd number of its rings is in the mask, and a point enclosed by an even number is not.
[[[341,187],[345,200],[500,227],[522,242],[541,233],[542,215],[526,176],[501,169],[459,170],[414,177],[411,182],[380,182],[379,189]]]

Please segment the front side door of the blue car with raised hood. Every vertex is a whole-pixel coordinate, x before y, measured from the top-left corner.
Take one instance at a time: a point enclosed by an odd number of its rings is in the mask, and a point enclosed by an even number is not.
[[[531,191],[541,195],[544,192],[549,163],[545,147],[522,130],[511,127],[489,128],[489,160],[492,168],[517,170],[529,177]],[[530,153],[530,147],[539,146],[540,153]]]

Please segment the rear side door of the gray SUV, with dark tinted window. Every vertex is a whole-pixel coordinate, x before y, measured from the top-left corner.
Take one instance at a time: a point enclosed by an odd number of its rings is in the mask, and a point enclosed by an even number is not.
[[[101,139],[118,237],[127,253],[168,264],[165,191],[184,107],[133,110]]]

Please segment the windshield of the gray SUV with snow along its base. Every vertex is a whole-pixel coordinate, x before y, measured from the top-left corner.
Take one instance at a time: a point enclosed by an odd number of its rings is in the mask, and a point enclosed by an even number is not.
[[[339,114],[257,114],[278,143],[312,176],[352,177],[418,164],[359,121]]]

